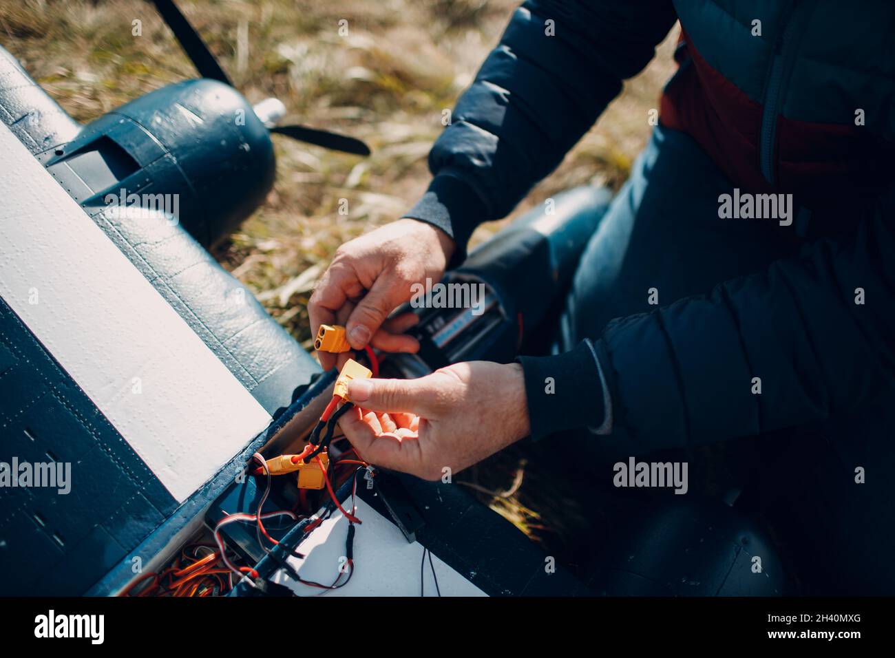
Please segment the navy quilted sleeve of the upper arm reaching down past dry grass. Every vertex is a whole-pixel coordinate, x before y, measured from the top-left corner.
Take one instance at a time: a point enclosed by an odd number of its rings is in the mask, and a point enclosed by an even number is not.
[[[462,259],[475,227],[558,166],[675,20],[669,0],[528,0],[457,102],[405,217],[445,230]]]

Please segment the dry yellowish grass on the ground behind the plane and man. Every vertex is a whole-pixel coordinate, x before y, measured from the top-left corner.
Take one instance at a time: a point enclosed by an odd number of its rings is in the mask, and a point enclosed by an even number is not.
[[[267,202],[217,253],[295,338],[309,344],[305,303],[339,244],[396,218],[428,183],[425,157],[452,107],[497,42],[516,0],[183,0],[180,5],[250,101],[277,96],[291,119],[361,137],[359,159],[275,138],[277,182]],[[338,34],[348,21],[348,36]],[[132,36],[132,21],[142,36]],[[241,29],[241,25],[243,26]],[[248,39],[239,43],[243,30]],[[20,0],[0,5],[0,39],[82,122],[161,85],[195,77],[151,5],[141,0]],[[516,213],[591,181],[617,187],[649,133],[671,71],[673,37],[599,124]],[[337,214],[340,198],[350,214]],[[498,226],[482,227],[474,241]],[[524,450],[464,479],[493,508],[551,550],[570,554],[588,524],[575,495]],[[466,475],[466,474],[465,474]],[[574,552],[574,551],[573,551]]]

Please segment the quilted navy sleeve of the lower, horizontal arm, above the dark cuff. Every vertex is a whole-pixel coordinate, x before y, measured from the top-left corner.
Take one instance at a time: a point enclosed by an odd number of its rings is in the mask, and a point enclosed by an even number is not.
[[[823,421],[891,387],[891,198],[847,241],[610,322],[594,347],[612,433],[638,452],[699,445]]]

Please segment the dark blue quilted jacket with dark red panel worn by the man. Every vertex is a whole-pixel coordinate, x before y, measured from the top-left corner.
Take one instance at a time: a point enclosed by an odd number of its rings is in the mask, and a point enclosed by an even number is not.
[[[446,230],[462,255],[475,226],[507,215],[557,167],[678,19],[692,73],[663,98],[663,123],[690,133],[735,184],[796,192],[838,221],[803,258],[592,337],[613,433],[640,451],[823,421],[891,385],[895,3],[526,2],[459,99],[430,153],[430,189],[406,215]],[[575,375],[591,386],[576,393],[583,408],[600,395],[596,367]],[[549,408],[530,413],[534,434],[563,424]]]

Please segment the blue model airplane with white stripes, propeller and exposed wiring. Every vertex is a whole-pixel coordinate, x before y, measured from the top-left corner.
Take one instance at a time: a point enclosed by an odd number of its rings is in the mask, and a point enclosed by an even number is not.
[[[309,501],[294,484],[277,484],[268,505],[307,514],[294,526],[270,521],[278,543],[264,545],[251,523],[257,516],[260,528],[268,511],[263,480],[247,475],[258,466],[252,456],[300,451],[335,374],[322,372],[206,247],[264,200],[274,178],[271,133],[369,150],[277,125],[282,103],[252,107],[175,5],[155,4],[201,79],[86,125],[0,48],[0,594],[162,592],[171,583],[159,575],[180,556],[205,557],[196,547],[211,531],[220,534],[218,558],[240,565],[243,579],[217,578],[217,586],[209,578],[191,594],[273,585],[302,594],[342,573],[354,528],[337,508],[355,491],[365,523],[354,539],[357,576],[339,585],[343,594],[415,594],[421,585],[430,594],[587,592],[561,568],[545,570],[540,550],[462,488],[373,469],[337,482],[335,505],[325,491]],[[474,280],[496,301],[480,314],[422,312],[413,330],[425,349],[386,358],[384,371],[415,376],[458,360],[511,360],[536,337],[592,232],[575,205],[608,199],[573,192],[566,215],[524,218],[473,252],[448,277]],[[250,522],[218,527],[234,514]],[[724,578],[749,568],[739,540],[752,530],[711,516],[704,526],[717,541],[694,557],[723,577],[706,577],[691,594],[723,592]],[[432,579],[421,584],[427,550],[436,560],[430,555]],[[614,591],[678,593],[677,575],[630,573]],[[755,582],[754,594],[779,588],[776,578]]]

